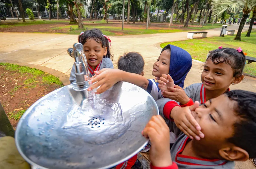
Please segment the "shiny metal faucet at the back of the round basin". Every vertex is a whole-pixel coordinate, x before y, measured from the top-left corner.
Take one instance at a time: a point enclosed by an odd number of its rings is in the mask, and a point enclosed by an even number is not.
[[[88,82],[90,79],[90,76],[88,74],[88,68],[87,68],[87,60],[84,55],[84,47],[81,43],[75,43],[73,45],[73,48],[68,49],[68,54],[75,58],[75,65],[76,65],[76,83],[78,87],[84,88],[89,87]],[[82,59],[82,60],[81,60]],[[85,72],[83,70],[82,64],[85,67]],[[87,79],[84,78],[84,75],[87,75]]]

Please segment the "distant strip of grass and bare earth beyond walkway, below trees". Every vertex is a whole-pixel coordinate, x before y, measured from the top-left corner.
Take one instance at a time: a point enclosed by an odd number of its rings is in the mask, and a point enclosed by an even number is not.
[[[184,28],[183,24],[174,24],[171,28],[169,23],[151,23],[148,29],[146,29],[146,23],[137,23],[124,25],[122,30],[122,22],[117,20],[109,21],[107,24],[104,20],[84,20],[84,28],[92,29],[99,28],[105,35],[137,35],[137,34],[156,34],[156,33],[175,33],[175,32],[187,32],[191,30],[204,30],[221,27],[220,24],[207,24],[206,26],[198,27],[196,25],[189,25],[188,28]],[[0,32],[33,32],[33,33],[65,33],[65,34],[79,34],[84,29],[78,29],[78,25],[69,24],[69,20],[36,20],[26,22],[22,21],[5,21],[0,23]]]

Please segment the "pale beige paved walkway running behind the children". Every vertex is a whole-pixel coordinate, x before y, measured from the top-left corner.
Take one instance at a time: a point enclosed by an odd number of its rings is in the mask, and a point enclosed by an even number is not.
[[[243,31],[248,30],[246,25]],[[207,30],[207,37],[219,36],[221,28]],[[228,29],[234,29],[237,32],[238,25],[229,26]],[[32,33],[0,33],[0,62],[17,63],[36,67],[48,73],[52,73],[64,82],[69,84],[68,77],[74,59],[68,56],[67,49],[77,42],[77,35],[65,34],[32,34]],[[201,37],[201,35],[194,35]],[[112,36],[111,51],[114,53],[113,64],[117,68],[117,59],[126,51],[139,52],[145,59],[145,76],[153,78],[152,66],[160,55],[161,42],[172,42],[178,40],[187,40],[187,32],[165,33],[165,34],[149,34],[149,35],[127,35]],[[188,73],[185,81],[185,87],[201,82],[200,72],[202,63],[193,61],[193,66]],[[255,78],[246,77],[246,79],[238,85],[231,86],[231,89],[244,89],[256,92]],[[144,153],[147,159],[148,154]],[[148,168],[148,161],[141,157],[144,168]],[[254,168],[251,161],[237,162],[236,169]]]

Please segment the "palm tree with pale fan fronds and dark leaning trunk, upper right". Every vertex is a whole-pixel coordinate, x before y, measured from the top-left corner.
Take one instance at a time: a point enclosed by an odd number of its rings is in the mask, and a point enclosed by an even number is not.
[[[256,5],[256,0],[212,0],[213,15],[219,15],[225,11],[235,12],[243,9],[243,17],[241,19],[236,37],[234,40],[241,41],[241,33],[244,28],[245,21],[252,8]]]

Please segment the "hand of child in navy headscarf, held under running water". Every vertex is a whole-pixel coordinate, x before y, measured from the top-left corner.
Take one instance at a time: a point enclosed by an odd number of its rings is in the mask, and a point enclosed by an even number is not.
[[[94,76],[89,81],[89,84],[92,84],[87,90],[91,91],[93,88],[100,88],[97,89],[96,94],[103,93],[104,91],[111,88],[114,84],[118,81],[122,81],[121,78],[121,70],[118,69],[101,69],[100,71],[94,71]],[[96,82],[93,84],[94,82]]]

